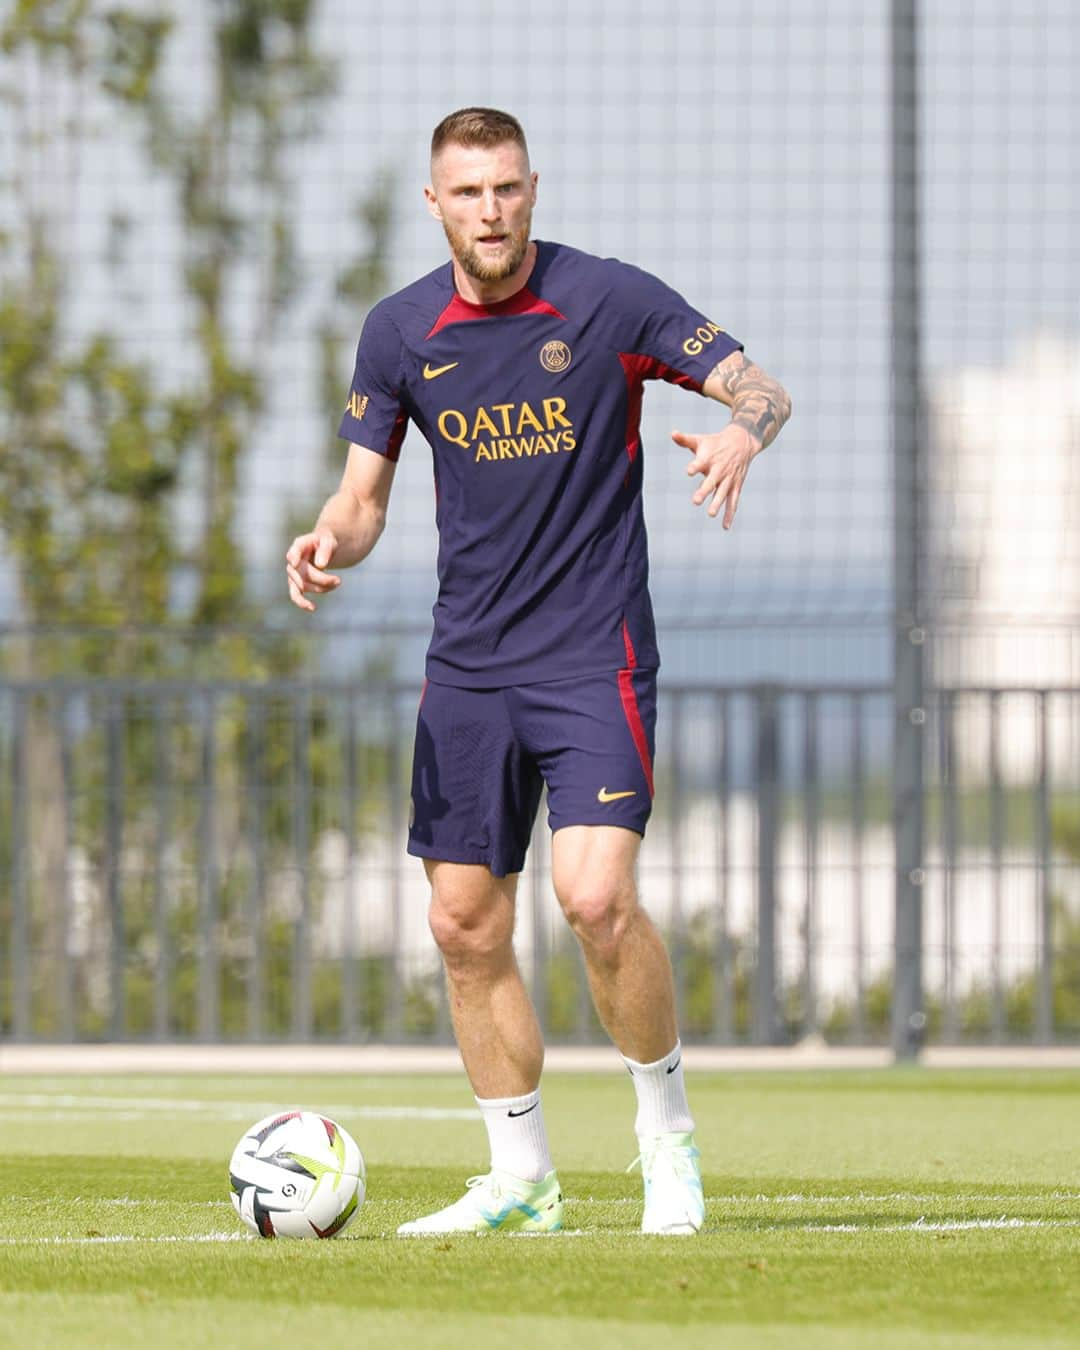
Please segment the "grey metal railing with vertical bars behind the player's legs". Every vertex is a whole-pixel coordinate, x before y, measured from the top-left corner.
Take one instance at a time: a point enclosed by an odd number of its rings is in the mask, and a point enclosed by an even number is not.
[[[0,686],[0,1035],[448,1040],[405,855],[417,697]],[[1080,757],[1054,745],[1080,694],[953,690],[929,717],[925,1035],[1075,1040]],[[663,688],[640,880],[687,1041],[890,1038],[891,747],[887,687]],[[602,1035],[543,814],[517,944],[547,1035]]]

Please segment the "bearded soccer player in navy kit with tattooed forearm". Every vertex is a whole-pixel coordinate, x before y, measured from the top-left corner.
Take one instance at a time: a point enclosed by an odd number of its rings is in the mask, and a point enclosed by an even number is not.
[[[659,655],[639,423],[645,381],[726,404],[690,451],[729,528],[751,460],[790,414],[741,344],[655,277],[531,236],[537,176],[517,120],[464,108],[435,130],[431,215],[451,261],[367,317],[340,435],[348,460],[286,555],[289,594],[342,582],[379,539],[406,424],[432,448],[439,598],[417,714],[409,852],[491,1166],[402,1234],[555,1231],[544,1048],[513,952],[514,891],[541,786],[552,875],[601,1022],[630,1071],[643,1233],[705,1216],[671,964],[641,909]],[[672,224],[678,228],[678,224]],[[331,571],[335,568],[335,571]]]

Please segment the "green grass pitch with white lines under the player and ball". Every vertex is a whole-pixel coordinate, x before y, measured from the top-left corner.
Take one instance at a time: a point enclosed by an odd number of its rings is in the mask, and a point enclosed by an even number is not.
[[[1080,1073],[691,1077],[709,1203],[643,1238],[632,1087],[549,1075],[567,1233],[401,1239],[483,1169],[462,1077],[0,1077],[0,1346],[1080,1346]],[[369,1197],[244,1237],[243,1127],[338,1118]]]

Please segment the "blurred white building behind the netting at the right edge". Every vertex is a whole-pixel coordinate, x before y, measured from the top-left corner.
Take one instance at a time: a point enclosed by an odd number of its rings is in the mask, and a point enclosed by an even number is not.
[[[1080,688],[1080,344],[1021,340],[929,393],[926,586],[941,688]],[[1048,701],[1048,765],[1080,774],[1077,697]],[[1040,765],[1040,701],[998,699],[1004,782]],[[965,701],[957,767],[990,774],[988,699]]]

